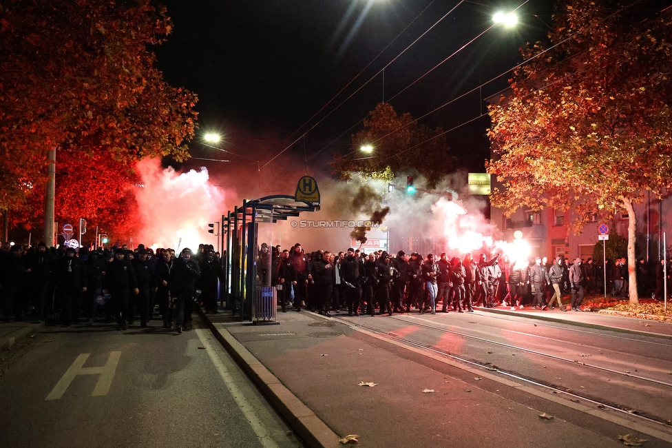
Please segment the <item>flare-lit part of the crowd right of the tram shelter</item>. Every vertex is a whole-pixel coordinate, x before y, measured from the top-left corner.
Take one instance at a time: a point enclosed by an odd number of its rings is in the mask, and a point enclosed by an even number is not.
[[[662,262],[650,269],[638,260],[640,296],[662,297]],[[258,256],[260,281],[278,289],[282,312],[306,307],[330,316],[331,312],[359,314],[472,312],[475,305],[505,306],[510,309],[569,309],[580,312],[587,294],[604,292],[602,265],[560,256],[553,261],[536,257],[534,262],[511,263],[506,256],[488,258],[471,254],[464,258],[417,252],[410,255],[377,250],[366,254],[348,249],[337,254],[315,251],[306,254],[300,244],[289,250],[266,243]],[[607,292],[616,298],[628,296],[628,267],[625,258],[607,263]],[[668,276],[669,281],[669,276]],[[569,303],[563,303],[569,294]],[[569,305],[569,308],[567,307]]]

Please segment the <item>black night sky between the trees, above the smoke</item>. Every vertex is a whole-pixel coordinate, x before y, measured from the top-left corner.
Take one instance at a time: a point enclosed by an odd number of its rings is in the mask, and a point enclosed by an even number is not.
[[[388,101],[427,70],[476,37],[492,23],[497,10],[511,10],[521,1],[479,0],[461,4],[423,39],[385,70]],[[171,85],[199,96],[200,133],[218,130],[235,138],[277,136],[273,150],[291,143],[301,125],[374,59],[392,39],[401,36],[318,119],[374,76],[414,39],[456,4],[456,0],[161,0],[174,22],[168,41],[156,48],[158,67]],[[551,17],[550,0],[529,0],[518,10],[514,30],[501,26],[485,33],[448,63],[424,77],[391,103],[397,113],[415,118],[496,77],[521,61],[518,48],[545,39]],[[351,14],[348,15],[348,10]],[[355,24],[359,21],[359,27]],[[545,22],[545,23],[544,23]],[[422,119],[444,130],[485,112],[485,98],[506,87],[507,77]],[[383,99],[381,75],[306,136],[306,154],[323,150],[313,166],[328,161],[336,150],[347,151],[346,132]],[[308,125],[315,123],[315,119]],[[487,157],[487,117],[450,132],[448,142],[470,171],[482,172]],[[344,132],[346,132],[344,134]],[[294,136],[293,136],[294,134]],[[342,138],[324,149],[324,144]],[[190,145],[193,154],[198,145]],[[292,153],[294,151],[294,153]],[[304,159],[304,142],[289,151]],[[267,156],[262,157],[268,160]]]

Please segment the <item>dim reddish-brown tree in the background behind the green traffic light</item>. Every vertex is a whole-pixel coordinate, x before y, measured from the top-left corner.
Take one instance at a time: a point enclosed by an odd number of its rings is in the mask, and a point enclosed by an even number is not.
[[[370,154],[359,148],[371,145]],[[397,115],[390,103],[381,103],[364,119],[364,130],[353,136],[347,156],[337,154],[333,166],[342,175],[361,172],[379,175],[386,167],[393,173],[414,171],[431,186],[452,172],[454,156],[441,128],[429,128],[408,113]]]

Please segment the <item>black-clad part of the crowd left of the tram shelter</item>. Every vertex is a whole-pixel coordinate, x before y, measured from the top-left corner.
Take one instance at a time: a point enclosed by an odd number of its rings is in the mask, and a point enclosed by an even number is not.
[[[193,298],[216,313],[222,263],[211,245],[196,254],[185,248],[156,250],[138,245],[78,252],[40,242],[24,250],[4,243],[0,250],[0,322],[54,315],[63,326],[116,322],[125,330],[139,317],[147,327],[158,314],[164,328],[189,328]]]

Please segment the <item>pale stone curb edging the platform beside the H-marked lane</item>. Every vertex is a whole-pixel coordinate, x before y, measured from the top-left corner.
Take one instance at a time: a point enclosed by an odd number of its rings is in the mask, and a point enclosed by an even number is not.
[[[308,447],[335,448],[339,446],[340,437],[320,420],[315,412],[287,389],[244,345],[231,336],[231,333],[224,328],[215,327],[200,307],[196,306],[195,309],[202,320],[207,323],[213,336],[227,349],[235,362],[254,381]]]

